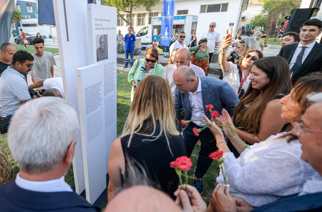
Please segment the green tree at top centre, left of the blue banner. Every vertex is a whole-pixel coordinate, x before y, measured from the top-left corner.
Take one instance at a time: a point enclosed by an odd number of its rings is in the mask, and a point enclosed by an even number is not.
[[[151,7],[159,2],[160,0],[104,0],[103,4],[116,7],[117,14],[125,21],[125,23],[129,24],[130,27],[132,27],[132,33],[135,33],[132,23],[133,9],[140,8],[143,5],[147,9],[147,11],[151,11]],[[129,21],[119,13],[120,11],[130,14],[131,18],[129,19]]]

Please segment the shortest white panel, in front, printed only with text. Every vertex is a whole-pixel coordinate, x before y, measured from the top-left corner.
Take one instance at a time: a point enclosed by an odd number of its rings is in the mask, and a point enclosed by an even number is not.
[[[93,204],[106,188],[103,64],[76,69],[86,199]]]

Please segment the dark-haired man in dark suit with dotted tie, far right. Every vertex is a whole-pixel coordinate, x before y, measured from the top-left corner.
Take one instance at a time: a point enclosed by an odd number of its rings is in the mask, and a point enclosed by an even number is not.
[[[321,32],[321,20],[308,20],[301,26],[300,43],[285,45],[279,51],[278,56],[289,62],[293,84],[310,72],[322,71],[322,44],[315,41]]]

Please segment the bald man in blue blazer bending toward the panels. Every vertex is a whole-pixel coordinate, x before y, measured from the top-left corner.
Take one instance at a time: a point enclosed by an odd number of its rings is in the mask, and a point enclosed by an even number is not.
[[[231,115],[238,104],[238,97],[232,87],[225,81],[214,77],[196,76],[195,72],[188,66],[180,66],[173,73],[173,82],[176,84],[175,91],[175,111],[179,115],[184,109],[184,120],[195,120],[187,127],[182,126],[183,136],[188,157],[190,157],[195,144],[201,141],[197,166],[194,172],[194,186],[200,194],[203,193],[204,186],[201,178],[207,172],[212,163],[209,158],[210,153],[217,150],[216,141],[209,128],[204,129],[196,136],[193,129],[200,129],[207,126],[203,115],[211,119],[210,112],[205,106],[213,105],[213,109],[220,114],[225,108]],[[183,113],[182,113],[183,114]]]

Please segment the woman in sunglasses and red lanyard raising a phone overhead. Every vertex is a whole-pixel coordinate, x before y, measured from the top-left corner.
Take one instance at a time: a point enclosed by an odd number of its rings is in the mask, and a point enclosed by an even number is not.
[[[251,68],[253,63],[260,58],[263,58],[263,54],[259,50],[250,50],[242,54],[242,60],[238,61],[237,64],[228,62],[226,60],[226,48],[232,42],[232,38],[227,38],[223,40],[221,50],[219,52],[219,64],[223,71],[223,81],[228,82],[228,84],[234,89],[239,99],[247,91],[251,80],[249,79],[251,75]]]

